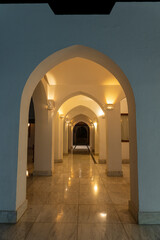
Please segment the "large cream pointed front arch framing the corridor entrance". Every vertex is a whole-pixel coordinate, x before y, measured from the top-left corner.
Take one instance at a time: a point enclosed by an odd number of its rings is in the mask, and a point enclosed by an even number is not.
[[[22,92],[20,105],[20,121],[19,121],[19,145],[18,145],[18,166],[17,166],[17,194],[16,209],[23,204],[26,199],[26,162],[27,162],[27,121],[31,96],[38,82],[44,77],[46,72],[59,63],[74,57],[89,59],[113,74],[123,88],[128,101],[129,112],[129,131],[130,131],[130,165],[131,165],[131,201],[130,209],[134,215],[138,211],[138,173],[137,173],[137,137],[136,137],[136,108],[134,94],[131,85],[119,68],[110,58],[103,53],[98,52],[89,47],[75,45],[53,53],[42,61],[36,69],[31,73]],[[74,93],[77,95],[77,93]],[[73,94],[73,95],[74,95]],[[73,96],[72,95],[72,96]],[[87,95],[87,93],[86,93]],[[71,97],[71,96],[70,96]],[[94,99],[94,97],[92,96]],[[56,111],[66,99],[62,99],[56,106]],[[94,99],[98,102],[97,99]],[[101,103],[99,103],[102,106]]]

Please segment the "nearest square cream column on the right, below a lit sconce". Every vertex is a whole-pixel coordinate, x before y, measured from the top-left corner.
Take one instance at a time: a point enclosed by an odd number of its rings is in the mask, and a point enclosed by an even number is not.
[[[121,159],[120,103],[108,109],[107,118],[107,175],[123,176]]]

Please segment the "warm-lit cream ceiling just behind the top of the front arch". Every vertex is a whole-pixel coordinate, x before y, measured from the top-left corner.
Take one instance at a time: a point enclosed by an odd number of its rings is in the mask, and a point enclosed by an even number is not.
[[[106,68],[80,57],[58,64],[45,77],[49,85],[120,85]]]

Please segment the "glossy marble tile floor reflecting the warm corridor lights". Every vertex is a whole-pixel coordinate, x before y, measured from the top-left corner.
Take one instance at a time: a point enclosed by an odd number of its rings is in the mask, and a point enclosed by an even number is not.
[[[28,209],[17,224],[0,224],[0,240],[158,240],[159,225],[135,224],[128,212],[129,164],[107,177],[90,155],[69,154],[52,177],[27,179]]]

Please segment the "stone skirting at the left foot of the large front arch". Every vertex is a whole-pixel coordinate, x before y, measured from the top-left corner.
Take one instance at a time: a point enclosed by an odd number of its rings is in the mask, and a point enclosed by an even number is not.
[[[0,223],[16,223],[27,209],[28,201],[24,203],[15,211],[2,210],[0,211]]]

